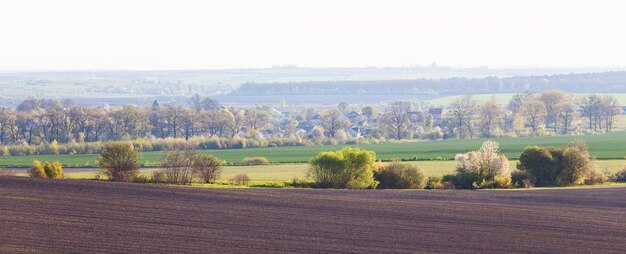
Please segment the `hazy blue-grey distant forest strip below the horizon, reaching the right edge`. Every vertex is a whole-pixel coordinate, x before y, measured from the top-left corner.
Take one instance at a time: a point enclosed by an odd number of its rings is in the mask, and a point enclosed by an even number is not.
[[[310,81],[245,83],[231,95],[288,94],[415,94],[459,95],[519,93],[558,89],[569,93],[624,93],[626,72],[518,76],[511,78],[448,78],[377,81]]]

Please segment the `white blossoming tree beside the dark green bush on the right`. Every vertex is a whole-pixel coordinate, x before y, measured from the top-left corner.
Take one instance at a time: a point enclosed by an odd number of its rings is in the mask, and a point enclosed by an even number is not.
[[[492,181],[495,177],[511,177],[509,160],[505,155],[498,155],[497,142],[488,140],[478,149],[464,154],[457,154],[454,160],[459,163],[459,171],[478,174],[481,181]]]

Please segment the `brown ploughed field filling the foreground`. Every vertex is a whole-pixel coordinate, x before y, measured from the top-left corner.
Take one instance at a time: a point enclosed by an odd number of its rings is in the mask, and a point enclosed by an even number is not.
[[[194,189],[0,177],[0,252],[623,253],[626,188]]]

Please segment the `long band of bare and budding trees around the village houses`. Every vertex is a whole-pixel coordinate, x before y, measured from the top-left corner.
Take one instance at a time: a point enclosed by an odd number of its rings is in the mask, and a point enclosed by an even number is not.
[[[17,109],[0,109],[0,144],[41,145],[134,139],[191,139],[197,136],[257,142],[268,137],[290,138],[301,144],[368,140],[442,139],[520,135],[560,135],[610,132],[622,112],[610,95],[575,99],[561,91],[515,95],[507,105],[495,98],[477,103],[471,96],[437,112],[408,101],[389,102],[379,111],[370,105],[352,108],[270,107],[224,108],[210,98],[195,96],[190,106],[84,107],[71,102],[27,100]],[[431,108],[433,109],[433,108]],[[419,113],[420,117],[415,116]],[[358,132],[358,133],[357,133]],[[269,145],[269,144],[268,144]]]

